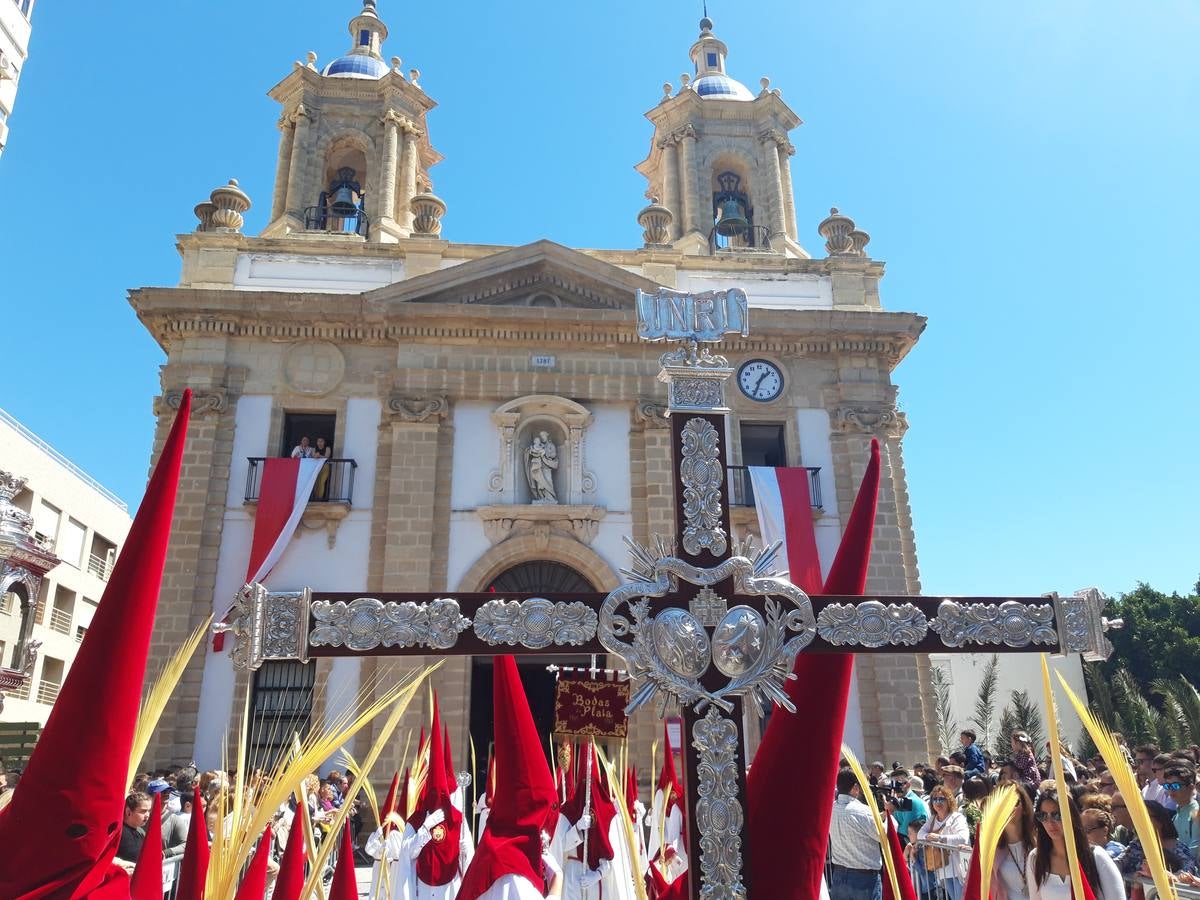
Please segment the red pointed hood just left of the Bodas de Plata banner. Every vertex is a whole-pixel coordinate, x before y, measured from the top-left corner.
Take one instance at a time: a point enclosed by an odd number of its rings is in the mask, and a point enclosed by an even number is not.
[[[505,875],[521,876],[541,890],[541,833],[552,830],[558,815],[554,779],[512,656],[496,658],[492,690],[499,778],[487,828],[457,900],[476,900]]]

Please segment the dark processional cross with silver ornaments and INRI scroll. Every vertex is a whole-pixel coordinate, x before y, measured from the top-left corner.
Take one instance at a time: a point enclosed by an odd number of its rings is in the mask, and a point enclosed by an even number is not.
[[[677,341],[661,356],[672,438],[674,547],[634,541],[629,578],[608,594],[268,592],[247,584],[228,624],[233,661],[330,656],[611,653],[629,668],[629,710],[655,701],[684,720],[689,896],[744,899],[743,708],[793,708],[799,653],[1084,653],[1103,659],[1098,592],[1072,598],[808,595],[775,569],[775,547],[731,538],[724,493],[725,383],[708,343],[749,334],[743,290],[638,292],[638,335]],[[805,688],[802,688],[802,690]],[[808,688],[811,689],[811,688]]]

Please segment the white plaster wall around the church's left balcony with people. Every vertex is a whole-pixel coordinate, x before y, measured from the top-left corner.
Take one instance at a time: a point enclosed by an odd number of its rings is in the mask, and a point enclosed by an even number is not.
[[[214,593],[217,617],[228,611],[234,594],[246,577],[254,526],[242,505],[245,457],[265,455],[271,402],[271,397],[264,396],[245,396],[238,401],[229,508],[226,510],[221,534]],[[342,455],[359,463],[350,514],[338,526],[332,547],[329,546],[323,527],[307,529],[301,526],[268,577],[266,584],[272,590],[296,590],[304,587],[314,590],[366,590],[380,408],[378,400],[350,400],[347,403]],[[200,767],[221,762],[221,749],[234,703],[234,673],[228,652],[232,642],[227,642],[224,652],[209,652],[205,658],[194,748],[196,761]],[[353,692],[356,689],[358,664],[335,667],[335,673],[337,680],[332,690]]]

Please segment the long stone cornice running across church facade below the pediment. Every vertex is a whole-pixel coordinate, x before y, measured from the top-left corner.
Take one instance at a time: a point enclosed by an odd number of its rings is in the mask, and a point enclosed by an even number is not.
[[[253,305],[247,300],[253,299]],[[158,344],[193,336],[253,340],[397,342],[480,342],[551,348],[583,344],[643,348],[632,310],[546,310],[463,304],[372,304],[346,294],[142,288],[130,295],[138,318]],[[755,310],[748,338],[731,338],[722,352],[782,355],[880,356],[892,366],[916,344],[925,318],[881,310]]]

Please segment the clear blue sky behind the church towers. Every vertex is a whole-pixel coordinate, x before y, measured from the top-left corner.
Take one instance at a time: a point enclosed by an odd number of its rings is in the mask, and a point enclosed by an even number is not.
[[[7,2],[8,0],[0,0]],[[700,2],[380,0],[438,101],[451,240],[636,246],[649,124]],[[265,222],[293,60],[353,0],[43,0],[0,156],[0,406],[136,504],[163,355],[125,292],[230,176]],[[712,0],[730,72],[773,86],[806,246],[839,205],[929,317],[895,378],[928,593],[1200,575],[1194,288],[1200,13],[1151,4]]]

